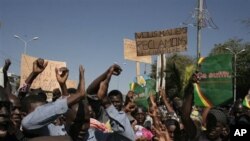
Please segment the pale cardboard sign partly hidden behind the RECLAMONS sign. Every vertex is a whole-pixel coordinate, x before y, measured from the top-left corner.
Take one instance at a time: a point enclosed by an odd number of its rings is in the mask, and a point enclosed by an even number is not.
[[[124,59],[152,64],[151,56],[137,56],[134,40],[124,39]]]

